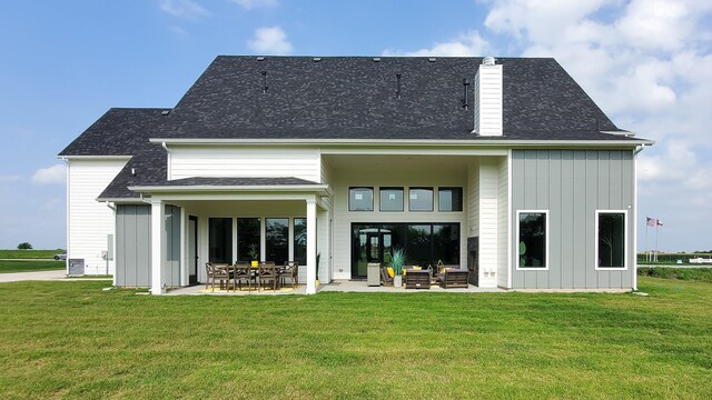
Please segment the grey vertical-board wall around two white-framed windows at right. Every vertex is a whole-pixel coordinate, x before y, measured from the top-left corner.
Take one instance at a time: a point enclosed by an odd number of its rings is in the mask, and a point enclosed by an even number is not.
[[[518,242],[517,210],[550,210],[548,270],[514,270],[515,288],[632,288],[633,162],[632,151],[513,151],[512,240]],[[595,270],[595,210],[629,210],[627,270]]]

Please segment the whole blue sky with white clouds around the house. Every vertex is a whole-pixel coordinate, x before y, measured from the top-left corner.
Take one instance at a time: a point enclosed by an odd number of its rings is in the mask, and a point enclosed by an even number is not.
[[[639,249],[712,249],[712,1],[3,0],[0,248],[66,247],[66,146],[218,54],[553,57],[639,154]],[[474,74],[474,71],[473,71]]]

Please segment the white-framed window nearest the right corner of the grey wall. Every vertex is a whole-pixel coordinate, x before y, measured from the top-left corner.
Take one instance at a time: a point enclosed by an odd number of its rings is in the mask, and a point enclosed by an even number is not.
[[[596,211],[596,269],[625,269],[625,211]]]

